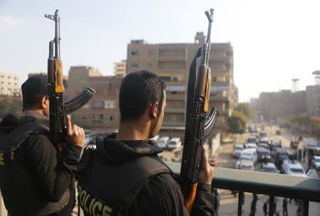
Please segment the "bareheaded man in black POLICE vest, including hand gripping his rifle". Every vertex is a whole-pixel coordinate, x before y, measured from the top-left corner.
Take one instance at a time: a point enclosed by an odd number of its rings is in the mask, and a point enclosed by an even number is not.
[[[148,71],[129,73],[119,91],[119,131],[105,137],[81,158],[79,202],[85,215],[188,215],[181,188],[148,143],[161,127],[165,84]],[[203,151],[191,215],[213,215],[213,168]]]

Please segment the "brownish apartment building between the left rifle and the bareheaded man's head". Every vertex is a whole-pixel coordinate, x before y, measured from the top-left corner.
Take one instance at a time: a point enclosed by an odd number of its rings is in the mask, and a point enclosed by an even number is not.
[[[73,119],[85,129],[110,133],[119,126],[119,88],[122,77],[103,76],[95,68],[71,67],[68,77],[67,98],[78,95],[86,86],[96,94],[84,107],[73,113]]]

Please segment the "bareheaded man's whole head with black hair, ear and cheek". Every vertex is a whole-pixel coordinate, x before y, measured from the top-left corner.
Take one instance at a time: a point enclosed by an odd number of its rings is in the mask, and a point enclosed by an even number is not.
[[[129,73],[120,87],[120,121],[149,122],[149,138],[155,136],[164,119],[165,89],[164,80],[153,72],[139,70]]]

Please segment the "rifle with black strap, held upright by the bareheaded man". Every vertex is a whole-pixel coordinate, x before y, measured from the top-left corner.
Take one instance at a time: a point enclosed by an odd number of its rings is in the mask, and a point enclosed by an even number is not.
[[[206,11],[208,17],[208,34],[206,43],[198,50],[191,63],[188,77],[188,96],[186,104],[186,130],[184,135],[183,154],[181,161],[181,189],[185,198],[186,208],[191,212],[196,195],[196,185],[201,165],[203,140],[210,134],[218,119],[218,111],[209,108],[210,78],[209,68],[210,35],[213,22],[213,9]],[[201,55],[201,63],[196,72],[196,60]]]

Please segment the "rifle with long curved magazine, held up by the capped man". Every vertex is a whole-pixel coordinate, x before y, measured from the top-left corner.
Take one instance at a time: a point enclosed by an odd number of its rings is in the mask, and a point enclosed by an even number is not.
[[[90,98],[95,95],[95,90],[85,87],[80,94],[65,102],[63,99],[63,67],[60,59],[60,16],[59,11],[55,11],[55,15],[45,15],[55,21],[55,38],[49,42],[49,58],[48,58],[48,96],[50,102],[50,139],[54,144],[65,142],[67,136],[65,126],[65,115],[74,112],[83,107]],[[53,45],[55,55],[53,55]]]

